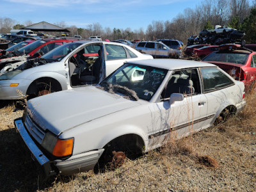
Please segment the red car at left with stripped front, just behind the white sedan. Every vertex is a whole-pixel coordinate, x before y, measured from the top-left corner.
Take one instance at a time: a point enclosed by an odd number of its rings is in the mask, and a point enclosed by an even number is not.
[[[27,60],[27,58],[39,58],[45,53],[68,42],[77,41],[76,38],[44,38],[37,40],[17,51],[6,52],[0,56],[0,70],[8,63]]]

